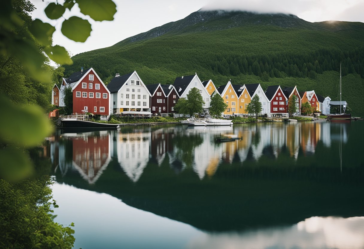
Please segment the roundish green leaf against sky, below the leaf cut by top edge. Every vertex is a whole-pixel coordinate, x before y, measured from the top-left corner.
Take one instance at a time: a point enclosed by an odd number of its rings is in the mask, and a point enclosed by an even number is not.
[[[92,31],[91,24],[77,16],[63,21],[61,31],[64,36],[75,42],[85,42]]]

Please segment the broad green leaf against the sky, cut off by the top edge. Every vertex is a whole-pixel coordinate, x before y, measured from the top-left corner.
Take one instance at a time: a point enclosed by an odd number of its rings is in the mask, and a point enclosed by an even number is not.
[[[89,15],[95,21],[112,21],[116,13],[116,5],[112,0],[76,0],[81,13]]]

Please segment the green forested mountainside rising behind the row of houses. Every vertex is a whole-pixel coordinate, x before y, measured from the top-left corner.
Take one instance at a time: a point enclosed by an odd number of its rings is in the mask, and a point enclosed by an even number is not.
[[[297,85],[299,91],[342,98],[364,116],[364,24],[309,23],[297,16],[198,11],[185,19],[75,55],[65,75],[93,67],[105,83],[136,70],[145,84],[172,84],[197,72],[216,86],[261,83]]]

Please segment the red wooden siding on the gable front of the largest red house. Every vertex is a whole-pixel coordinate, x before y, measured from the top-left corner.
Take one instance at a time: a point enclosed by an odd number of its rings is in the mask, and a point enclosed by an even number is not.
[[[89,75],[94,75],[94,80],[89,80]],[[86,88],[82,88],[82,83],[86,83]],[[92,88],[89,88],[89,83],[92,84]],[[100,89],[95,89],[95,84],[100,84]],[[80,97],[76,97],[76,92],[81,92]],[[83,97],[83,92],[86,92],[86,97]],[[90,92],[94,94],[94,98],[90,98]],[[96,98],[96,93],[100,93],[100,98]],[[103,94],[107,94],[107,98],[103,98]],[[110,94],[106,87],[96,77],[95,73],[91,70],[84,78],[80,81],[78,86],[73,90],[73,112],[83,113],[84,107],[88,107],[88,112],[99,115],[110,115]],[[96,111],[94,107],[96,106]],[[104,107],[104,112],[100,112],[100,107]]]

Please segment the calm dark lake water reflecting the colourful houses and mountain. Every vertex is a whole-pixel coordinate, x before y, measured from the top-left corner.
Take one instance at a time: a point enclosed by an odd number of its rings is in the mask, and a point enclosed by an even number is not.
[[[55,221],[83,249],[363,249],[363,142],[361,121],[58,130]]]

